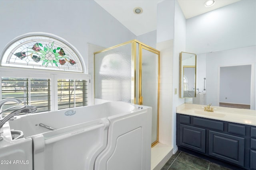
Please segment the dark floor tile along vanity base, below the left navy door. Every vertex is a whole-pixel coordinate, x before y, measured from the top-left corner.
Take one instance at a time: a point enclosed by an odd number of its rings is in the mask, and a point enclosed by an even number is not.
[[[185,152],[181,152],[179,156],[176,158],[180,162],[188,164],[190,166],[196,167],[200,170],[208,170],[210,162],[204,159],[200,159],[196,156],[187,154]]]

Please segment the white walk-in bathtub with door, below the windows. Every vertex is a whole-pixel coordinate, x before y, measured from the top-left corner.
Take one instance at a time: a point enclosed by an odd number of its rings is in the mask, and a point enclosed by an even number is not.
[[[33,170],[148,170],[152,108],[138,107],[107,102],[19,116],[9,125],[32,139]]]

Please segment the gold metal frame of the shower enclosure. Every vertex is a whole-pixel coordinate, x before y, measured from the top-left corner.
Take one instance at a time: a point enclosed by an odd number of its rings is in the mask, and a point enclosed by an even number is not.
[[[118,44],[118,45],[115,45],[115,46],[112,46],[112,47],[109,47],[109,48],[106,48],[106,49],[103,49],[101,51],[97,51],[94,53],[94,64],[95,64],[95,55],[98,54],[98,53],[102,53],[104,51],[108,51],[108,50],[111,50],[111,49],[115,49],[117,47],[120,47],[120,46],[123,46],[123,45],[127,45],[127,44],[130,44],[131,43],[131,46],[132,46],[132,52],[131,52],[131,103],[133,104],[136,104],[136,100],[138,100],[138,104],[139,105],[142,105],[143,104],[143,97],[141,96],[142,95],[142,49],[146,49],[152,53],[155,53],[156,55],[158,55],[158,92],[157,92],[157,139],[156,141],[154,141],[152,144],[151,144],[151,147],[154,147],[158,141],[159,141],[159,93],[160,93],[160,51],[134,39],[134,40],[131,40],[131,41],[127,41],[125,43],[121,43],[121,44]],[[138,47],[138,50],[139,50],[139,79],[138,79],[138,99],[136,99],[136,43],[138,43],[139,47]],[[95,65],[94,65],[94,73],[95,73]],[[94,85],[95,85],[95,74],[94,74]],[[133,98],[132,98],[133,96]],[[94,88],[94,98],[95,98],[95,88]]]

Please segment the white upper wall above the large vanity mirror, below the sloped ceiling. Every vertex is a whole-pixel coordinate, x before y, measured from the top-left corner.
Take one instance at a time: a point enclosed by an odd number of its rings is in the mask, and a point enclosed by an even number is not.
[[[186,22],[186,51],[208,53],[256,45],[256,1],[241,0]]]

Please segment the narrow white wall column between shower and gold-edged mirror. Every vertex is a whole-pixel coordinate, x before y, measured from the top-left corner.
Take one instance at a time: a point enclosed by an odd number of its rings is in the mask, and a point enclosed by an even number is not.
[[[157,14],[156,47],[161,58],[159,140],[176,152],[176,106],[184,103],[178,92],[179,56],[186,49],[186,18],[176,0],[160,2]]]

